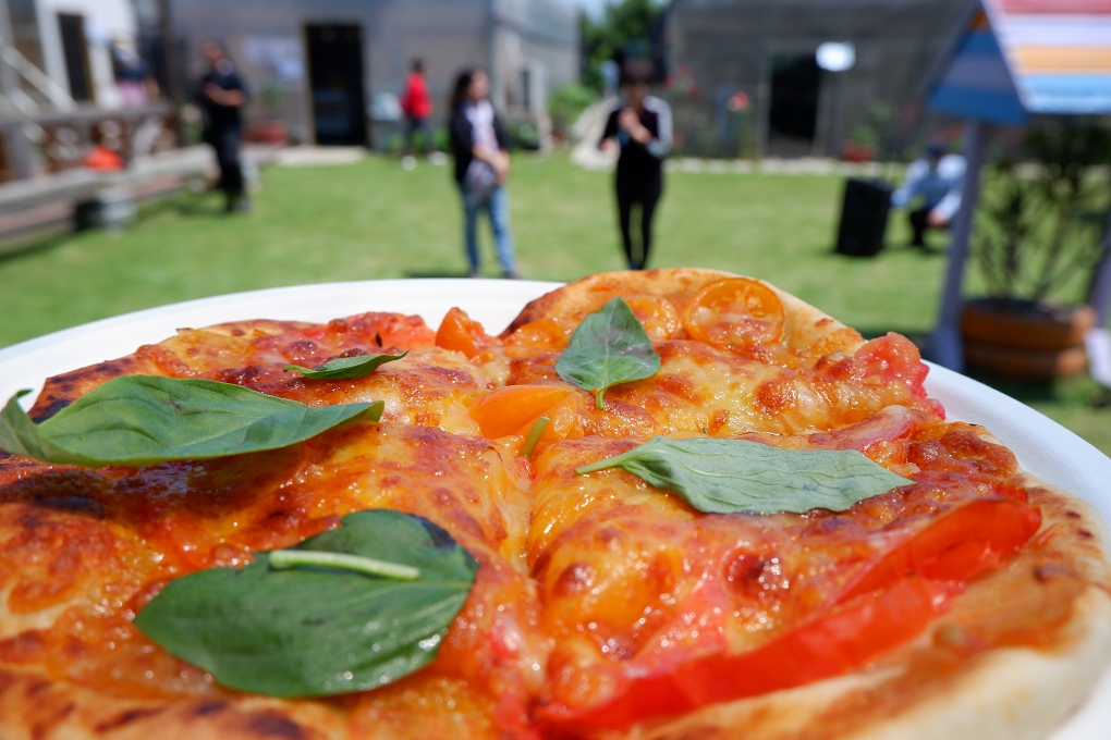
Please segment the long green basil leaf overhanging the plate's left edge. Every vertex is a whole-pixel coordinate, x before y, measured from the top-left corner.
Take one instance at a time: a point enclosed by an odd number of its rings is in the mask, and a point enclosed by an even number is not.
[[[386,404],[307,406],[230,383],[116,377],[36,424],[17,393],[0,413],[0,447],[42,463],[153,465],[286,447]]]

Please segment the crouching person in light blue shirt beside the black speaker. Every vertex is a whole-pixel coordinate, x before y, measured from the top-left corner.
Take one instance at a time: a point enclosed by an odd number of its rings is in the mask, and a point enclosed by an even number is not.
[[[917,195],[922,196],[922,205],[907,214],[913,232],[911,246],[925,247],[925,231],[948,229],[961,207],[964,158],[947,154],[945,149],[940,142],[930,144],[925,156],[914,160],[907,168],[903,184],[891,194],[891,205],[900,207]]]

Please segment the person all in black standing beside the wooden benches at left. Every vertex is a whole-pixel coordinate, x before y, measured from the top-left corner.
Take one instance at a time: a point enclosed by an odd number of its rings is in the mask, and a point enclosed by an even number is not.
[[[197,91],[197,102],[204,112],[203,139],[216,150],[220,189],[228,196],[227,210],[249,211],[251,204],[243,192],[243,168],[239,159],[243,128],[241,110],[247,103],[247,87],[222,45],[208,41],[203,53],[209,71],[201,78]]]

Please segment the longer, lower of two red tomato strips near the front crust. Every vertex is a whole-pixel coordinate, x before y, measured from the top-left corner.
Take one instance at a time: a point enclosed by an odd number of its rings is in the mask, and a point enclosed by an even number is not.
[[[645,719],[840,676],[913,639],[945,606],[944,592],[929,581],[904,578],[755,650],[699,658],[663,673],[621,673],[610,701],[584,709],[550,704],[539,713],[572,731],[620,730]]]

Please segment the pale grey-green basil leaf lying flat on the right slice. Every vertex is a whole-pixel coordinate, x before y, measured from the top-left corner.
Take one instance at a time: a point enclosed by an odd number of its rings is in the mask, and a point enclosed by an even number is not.
[[[682,496],[699,511],[843,511],[857,501],[912,485],[855,449],[780,449],[742,439],[653,437],[575,473],[621,468]]]

